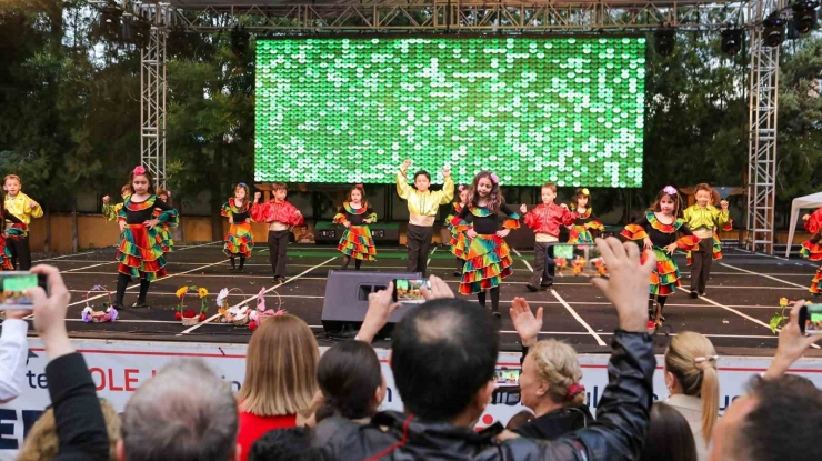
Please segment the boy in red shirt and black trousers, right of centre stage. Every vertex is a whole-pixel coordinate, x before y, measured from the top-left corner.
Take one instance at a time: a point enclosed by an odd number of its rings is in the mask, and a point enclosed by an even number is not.
[[[525,226],[533,229],[537,234],[533,252],[533,275],[531,281],[525,284],[528,291],[550,290],[553,285],[554,262],[553,245],[560,241],[560,227],[571,226],[574,217],[568,206],[557,204],[553,200],[557,198],[557,186],[552,182],[542,184],[542,204],[528,211],[523,203],[520,211],[525,216]],[[542,279],[542,280],[540,280]]]

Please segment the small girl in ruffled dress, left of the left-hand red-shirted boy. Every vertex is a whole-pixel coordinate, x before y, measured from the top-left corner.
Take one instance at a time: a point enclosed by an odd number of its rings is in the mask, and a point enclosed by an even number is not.
[[[229,233],[225,235],[225,243],[222,251],[231,258],[231,268],[237,269],[237,258],[240,258],[240,269],[244,271],[245,260],[251,258],[251,250],[254,249],[254,234],[251,233],[251,203],[249,203],[249,187],[240,182],[234,188],[234,197],[222,204],[220,214],[229,219]]]

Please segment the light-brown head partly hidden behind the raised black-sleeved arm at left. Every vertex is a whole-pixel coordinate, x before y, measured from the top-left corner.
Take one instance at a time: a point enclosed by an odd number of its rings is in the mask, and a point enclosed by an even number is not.
[[[100,408],[109,433],[109,461],[118,461],[117,443],[120,441],[120,415],[108,401],[100,399]],[[59,448],[54,409],[49,409],[37,420],[26,435],[17,461],[51,461]]]

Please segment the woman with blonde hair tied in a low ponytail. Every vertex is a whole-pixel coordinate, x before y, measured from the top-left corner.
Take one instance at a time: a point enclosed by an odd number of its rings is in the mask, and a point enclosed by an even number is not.
[[[708,459],[711,433],[719,419],[716,350],[700,333],[676,334],[665,351],[665,400],[688,420],[700,461]]]

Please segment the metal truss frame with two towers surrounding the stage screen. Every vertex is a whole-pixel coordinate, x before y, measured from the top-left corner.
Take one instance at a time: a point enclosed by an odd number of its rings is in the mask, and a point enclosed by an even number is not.
[[[106,0],[90,0],[101,4]],[[238,4],[203,0],[170,4],[111,0],[151,23],[141,54],[142,164],[166,186],[166,37],[169,29],[215,32],[242,26],[249,32],[318,34],[338,32],[609,32],[656,29],[749,30],[749,172],[746,244],[773,253],[776,180],[779,48],[765,46],[762,20],[788,0],[300,0]],[[174,1],[174,0],[170,0]],[[324,3],[323,3],[324,1]]]

